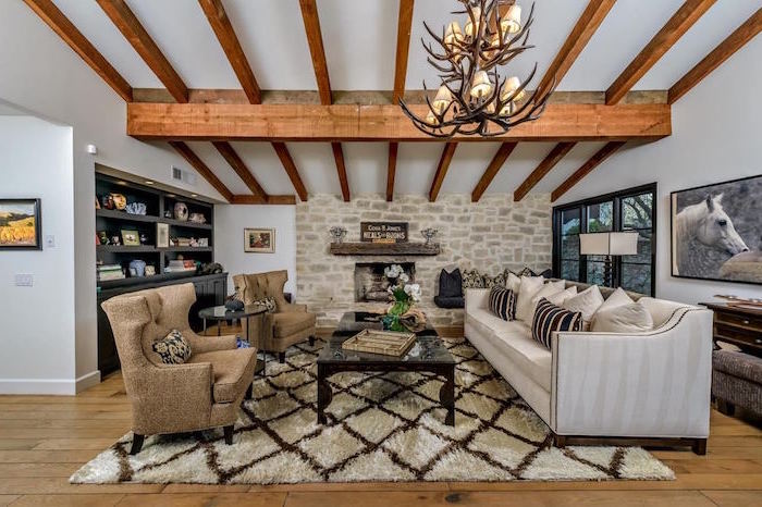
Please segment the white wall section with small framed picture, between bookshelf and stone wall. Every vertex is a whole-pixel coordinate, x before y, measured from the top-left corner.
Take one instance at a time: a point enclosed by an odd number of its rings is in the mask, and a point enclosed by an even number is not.
[[[275,252],[246,253],[244,228],[274,228]],[[235,274],[288,270],[285,290],[296,297],[296,207],[216,206],[214,260],[230,273],[230,294]]]

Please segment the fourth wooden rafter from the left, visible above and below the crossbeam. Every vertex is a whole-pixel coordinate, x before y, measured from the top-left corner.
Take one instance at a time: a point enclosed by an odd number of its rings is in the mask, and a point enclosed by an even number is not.
[[[320,17],[318,16],[318,5],[316,0],[299,0],[302,18],[305,24],[309,52],[312,57],[312,67],[315,69],[315,79],[318,83],[318,94],[320,103],[330,106],[333,103],[331,94],[331,78],[328,73],[328,62],[325,60],[325,48],[323,47],[323,36],[320,30]],[[336,162],[336,174],[342,188],[342,197],[349,201],[349,183],[346,176],[346,165],[344,164],[344,150],[339,143],[331,143],[333,160]]]

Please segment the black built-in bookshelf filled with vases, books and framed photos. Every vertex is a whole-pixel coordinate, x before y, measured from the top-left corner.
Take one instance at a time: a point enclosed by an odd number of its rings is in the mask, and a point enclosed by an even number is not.
[[[146,206],[146,214],[132,214],[125,210],[106,209],[102,196],[120,194],[125,197],[126,203],[142,202]],[[100,209],[96,209],[96,259],[101,272],[103,267],[112,267],[111,273],[119,265],[125,277],[121,280],[100,280],[97,285],[100,289],[121,286],[137,286],[142,283],[156,283],[164,280],[189,277],[195,271],[171,272],[168,267],[171,261],[185,260],[194,263],[206,264],[214,260],[214,228],[212,203],[192,199],[185,196],[153,188],[149,185],[140,185],[107,174],[96,173],[96,198],[101,202]],[[204,223],[194,223],[187,220],[177,220],[174,214],[175,203],[183,202],[189,213],[200,213],[206,219]],[[206,246],[187,246],[169,243],[167,247],[157,246],[157,224],[167,224],[169,238],[205,239]],[[122,238],[123,231],[137,233],[142,238],[140,245],[125,245]],[[108,245],[100,244],[100,232],[106,233]],[[112,238],[119,238],[119,244],[112,244]],[[130,263],[133,260],[142,260],[146,267],[152,267],[150,276],[131,276]]]

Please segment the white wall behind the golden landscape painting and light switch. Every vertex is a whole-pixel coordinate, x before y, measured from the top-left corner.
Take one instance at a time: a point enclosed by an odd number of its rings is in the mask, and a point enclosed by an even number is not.
[[[41,251],[0,251],[3,394],[75,392],[72,173],[71,127],[0,116],[0,198],[41,199],[42,240],[54,237]],[[34,285],[16,287],[16,274]]]

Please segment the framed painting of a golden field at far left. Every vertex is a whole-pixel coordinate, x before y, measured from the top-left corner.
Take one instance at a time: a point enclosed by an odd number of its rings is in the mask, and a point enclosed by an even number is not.
[[[39,199],[0,199],[0,249],[41,250]]]

